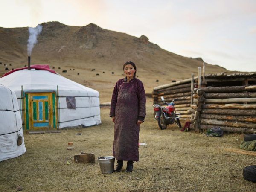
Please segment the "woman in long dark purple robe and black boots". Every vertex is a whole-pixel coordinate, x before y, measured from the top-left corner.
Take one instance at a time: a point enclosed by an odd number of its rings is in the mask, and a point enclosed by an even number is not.
[[[145,90],[136,78],[136,65],[128,61],[123,65],[124,79],[119,79],[113,90],[109,116],[115,123],[113,156],[117,160],[116,172],[127,161],[126,172],[132,172],[133,162],[139,161],[140,124],[145,118]]]

